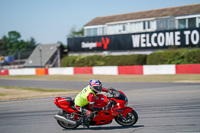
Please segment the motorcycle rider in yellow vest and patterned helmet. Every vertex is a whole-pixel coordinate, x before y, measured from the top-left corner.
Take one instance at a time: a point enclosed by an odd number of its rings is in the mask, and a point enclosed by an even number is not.
[[[113,90],[113,88],[102,88],[102,83],[99,80],[92,79],[90,80],[89,85],[75,97],[76,109],[85,114],[85,117],[83,118],[84,126],[89,128],[89,122],[94,118],[94,113],[92,111],[107,110],[107,107],[98,108],[94,106],[96,94],[101,91],[112,92]]]

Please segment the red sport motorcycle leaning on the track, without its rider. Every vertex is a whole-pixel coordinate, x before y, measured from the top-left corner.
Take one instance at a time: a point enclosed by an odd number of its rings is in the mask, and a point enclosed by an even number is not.
[[[97,94],[95,99],[97,107],[107,107],[108,110],[94,111],[95,115],[93,120],[90,121],[90,126],[110,124],[113,119],[122,126],[132,126],[137,122],[137,112],[127,106],[128,99],[122,91],[114,90],[107,96]],[[76,110],[71,97],[56,97],[54,103],[62,109],[54,116],[61,127],[74,129],[79,125],[84,125],[83,118],[85,116],[82,112]]]

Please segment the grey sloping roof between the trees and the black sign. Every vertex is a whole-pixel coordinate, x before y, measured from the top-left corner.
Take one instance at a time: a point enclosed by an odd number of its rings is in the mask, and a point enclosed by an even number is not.
[[[46,63],[50,60],[50,58],[55,54],[57,51],[57,47],[60,47],[61,44],[40,44],[38,45],[30,57],[25,62],[25,67],[41,67],[41,57],[40,57],[40,49],[42,54],[42,66],[45,66]]]

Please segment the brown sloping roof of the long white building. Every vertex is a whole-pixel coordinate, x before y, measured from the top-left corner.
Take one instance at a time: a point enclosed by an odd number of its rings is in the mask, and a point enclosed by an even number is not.
[[[125,13],[119,15],[96,17],[90,22],[88,22],[85,26],[103,25],[109,22],[117,22],[117,21],[158,18],[166,16],[182,16],[182,15],[198,14],[198,13],[200,13],[200,4],[185,5],[185,6],[161,8],[148,11]]]

